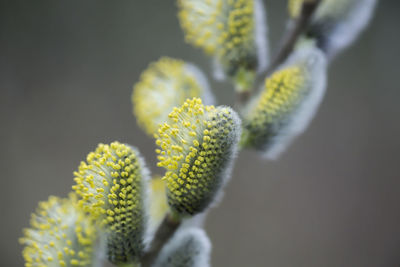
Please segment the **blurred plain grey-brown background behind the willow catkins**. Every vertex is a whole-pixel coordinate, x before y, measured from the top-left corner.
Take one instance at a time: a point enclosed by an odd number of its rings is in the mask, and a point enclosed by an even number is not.
[[[286,1],[266,0],[276,48]],[[240,154],[206,222],[213,266],[400,266],[400,2],[331,65],[307,132],[283,157]],[[21,266],[18,237],[99,142],[136,145],[154,173],[154,141],[136,125],[131,88],[162,55],[198,64],[174,1],[0,2],[0,266]],[[212,81],[220,103],[229,84]]]

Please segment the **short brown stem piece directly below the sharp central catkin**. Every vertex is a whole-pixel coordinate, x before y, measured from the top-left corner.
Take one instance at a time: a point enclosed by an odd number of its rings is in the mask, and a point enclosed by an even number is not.
[[[150,249],[143,255],[141,259],[142,267],[150,267],[156,257],[158,256],[161,249],[173,236],[175,231],[180,226],[181,221],[174,218],[171,213],[168,213],[154,236],[153,241],[150,244]]]

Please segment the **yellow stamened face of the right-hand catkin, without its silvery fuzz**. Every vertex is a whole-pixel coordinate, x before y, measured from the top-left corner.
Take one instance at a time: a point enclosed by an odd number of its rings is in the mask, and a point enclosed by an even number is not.
[[[309,93],[306,77],[307,70],[291,66],[266,79],[264,90],[246,116],[244,142],[247,146],[264,149],[273,142]]]

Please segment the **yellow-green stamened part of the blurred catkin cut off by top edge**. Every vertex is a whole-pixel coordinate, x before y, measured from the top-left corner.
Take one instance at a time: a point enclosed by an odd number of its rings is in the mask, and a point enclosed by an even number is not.
[[[178,0],[185,39],[234,76],[257,68],[254,0]]]

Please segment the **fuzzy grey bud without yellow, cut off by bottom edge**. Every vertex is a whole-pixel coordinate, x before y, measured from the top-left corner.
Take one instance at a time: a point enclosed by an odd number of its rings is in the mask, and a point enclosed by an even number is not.
[[[208,267],[210,252],[211,242],[204,230],[182,229],[161,250],[154,267]]]

